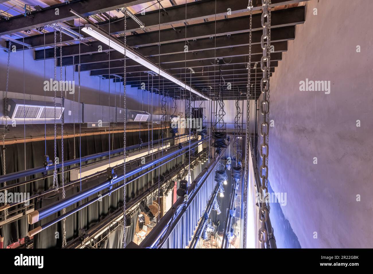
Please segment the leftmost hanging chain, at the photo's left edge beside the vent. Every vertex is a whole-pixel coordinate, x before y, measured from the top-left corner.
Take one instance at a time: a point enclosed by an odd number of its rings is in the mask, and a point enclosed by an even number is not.
[[[7,67],[6,67],[6,84],[5,84],[5,98],[4,98],[4,108],[5,108],[5,111],[4,111],[4,119],[5,119],[5,123],[4,123],[4,131],[3,131],[3,172],[4,172],[4,175],[6,174],[6,158],[5,158],[5,151],[6,151],[6,147],[5,147],[5,135],[8,131],[8,87],[9,87],[9,67],[10,67],[10,52],[11,52],[11,47],[12,47],[12,41],[9,41],[9,49],[8,49],[8,63],[7,63]],[[6,186],[6,182],[4,182],[4,186]],[[4,200],[4,205],[7,205],[7,202],[8,202],[8,190],[4,190],[4,196],[5,196],[5,200]],[[4,210],[4,221],[6,221],[6,218],[8,217],[9,213],[8,213],[8,209],[6,208]]]

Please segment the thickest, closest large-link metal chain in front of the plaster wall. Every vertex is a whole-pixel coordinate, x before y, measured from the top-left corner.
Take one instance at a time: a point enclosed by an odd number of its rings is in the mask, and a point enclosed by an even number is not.
[[[260,145],[260,156],[262,157],[262,164],[259,169],[259,176],[262,180],[261,187],[260,187],[260,194],[261,194],[261,203],[260,203],[260,210],[259,210],[259,220],[261,221],[261,228],[259,229],[259,242],[261,244],[261,248],[264,248],[264,243],[268,237],[268,232],[265,228],[265,223],[268,218],[268,210],[265,206],[265,199],[266,193],[268,191],[266,186],[266,180],[268,178],[268,167],[267,157],[269,153],[269,147],[267,143],[267,135],[269,132],[269,125],[267,122],[267,114],[269,112],[269,101],[267,101],[267,92],[269,91],[269,79],[267,70],[269,68],[269,59],[268,59],[268,45],[269,45],[269,36],[268,36],[268,27],[269,27],[269,0],[262,0],[263,11],[261,13],[261,25],[263,27],[263,34],[261,35],[261,48],[263,50],[263,56],[261,57],[260,67],[263,72],[263,78],[261,79],[260,83],[260,91],[263,93],[263,101],[260,105],[261,114],[263,114],[263,122],[260,125],[260,135],[263,137],[263,142]]]

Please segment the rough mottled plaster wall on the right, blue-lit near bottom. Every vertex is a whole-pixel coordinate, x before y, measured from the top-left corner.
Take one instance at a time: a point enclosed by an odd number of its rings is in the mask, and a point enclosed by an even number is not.
[[[372,248],[373,1],[306,6],[271,78],[270,184],[287,192],[282,210],[302,248]],[[300,91],[306,78],[329,80],[330,94]]]

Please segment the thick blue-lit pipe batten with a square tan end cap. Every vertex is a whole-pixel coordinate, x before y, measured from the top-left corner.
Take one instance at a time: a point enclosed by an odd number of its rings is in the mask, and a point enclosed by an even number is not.
[[[207,141],[208,139],[209,138],[205,138],[204,140],[193,142],[191,144],[191,146],[195,147],[198,144],[200,144],[201,142]],[[166,154],[166,155],[164,155],[164,156],[162,156],[162,157],[160,157],[156,160],[150,161],[147,164],[143,164],[143,165],[139,166],[138,168],[136,168],[134,170],[131,170],[128,173],[126,173],[126,178],[131,177],[134,174],[136,174],[136,173],[138,173],[142,170],[148,169],[149,167],[153,166],[154,164],[160,163],[163,160],[166,160],[167,158],[172,157],[173,155],[181,153],[188,148],[189,147],[183,147],[183,148],[180,148],[180,149],[176,149],[175,151],[170,152],[170,153],[168,153],[168,154]],[[35,210],[32,213],[28,214],[29,224],[33,224],[33,223],[37,222],[38,220],[41,220],[45,217],[48,217],[51,214],[54,214],[54,213],[62,210],[63,208],[66,208],[66,207],[68,207],[72,204],[75,204],[76,202],[79,202],[82,199],[88,198],[89,196],[91,196],[91,195],[93,195],[97,192],[100,192],[101,190],[109,188],[109,186],[115,185],[116,183],[122,181],[123,179],[124,179],[124,175],[122,174],[120,176],[117,176],[113,180],[106,180],[106,181],[104,181],[103,183],[100,183],[97,186],[94,186],[92,188],[89,188],[89,189],[86,189],[84,191],[78,192],[74,195],[71,195],[68,198],[65,198],[63,200],[54,202],[54,203],[52,203],[52,204],[50,204],[50,205],[48,205],[44,208],[41,208],[39,210]]]

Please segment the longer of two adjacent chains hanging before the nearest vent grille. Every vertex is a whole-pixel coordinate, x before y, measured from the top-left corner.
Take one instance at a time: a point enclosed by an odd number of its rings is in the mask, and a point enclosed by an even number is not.
[[[65,192],[65,173],[64,173],[64,165],[63,165],[63,91],[62,91],[62,32],[60,31],[60,89],[61,89],[61,176],[62,176],[62,199],[65,199],[66,192]],[[65,79],[66,80],[66,79]],[[66,213],[66,208],[62,210],[62,214]],[[63,237],[62,237],[62,247],[66,246],[66,218],[63,218]]]

